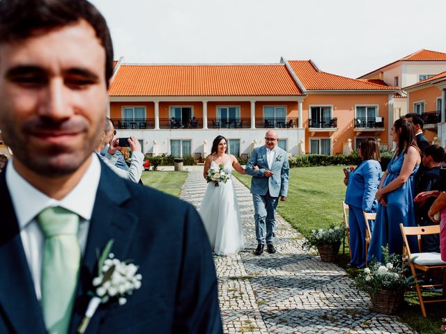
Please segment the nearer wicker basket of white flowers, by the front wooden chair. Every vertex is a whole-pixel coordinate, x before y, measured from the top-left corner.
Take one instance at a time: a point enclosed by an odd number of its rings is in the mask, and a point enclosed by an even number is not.
[[[371,262],[355,277],[355,285],[370,294],[371,304],[378,313],[392,315],[404,300],[404,290],[413,285],[413,276],[406,276],[401,255],[389,254],[383,247],[384,262]]]

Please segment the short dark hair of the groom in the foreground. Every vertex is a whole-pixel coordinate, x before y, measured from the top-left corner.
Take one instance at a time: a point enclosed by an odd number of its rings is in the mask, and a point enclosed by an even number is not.
[[[107,88],[113,74],[113,45],[105,18],[86,0],[1,0],[0,44],[20,42],[84,19],[105,49]]]

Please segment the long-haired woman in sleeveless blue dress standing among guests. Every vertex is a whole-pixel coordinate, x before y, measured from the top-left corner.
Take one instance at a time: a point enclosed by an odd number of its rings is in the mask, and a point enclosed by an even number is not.
[[[412,122],[403,118],[392,127],[397,149],[390,160],[376,193],[379,202],[374,232],[371,234],[368,261],[374,257],[383,262],[382,246],[389,246],[389,253],[403,253],[403,237],[399,224],[416,226],[413,198],[415,174],[420,166],[420,149],[413,133]],[[415,238],[408,240],[410,250],[418,251]]]

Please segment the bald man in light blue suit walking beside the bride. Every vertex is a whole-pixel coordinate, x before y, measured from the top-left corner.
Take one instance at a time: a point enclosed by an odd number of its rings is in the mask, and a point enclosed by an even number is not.
[[[275,212],[280,200],[286,200],[289,184],[289,163],[286,152],[277,146],[279,137],[275,130],[265,135],[265,145],[255,148],[246,164],[246,173],[252,175],[251,193],[254,201],[257,248],[254,254],[261,255],[265,244],[268,253],[276,253]],[[254,170],[254,166],[259,169]]]

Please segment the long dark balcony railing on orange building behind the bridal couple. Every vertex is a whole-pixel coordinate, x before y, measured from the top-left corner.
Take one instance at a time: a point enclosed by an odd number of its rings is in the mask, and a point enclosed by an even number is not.
[[[154,129],[154,118],[112,118],[115,129]],[[336,119],[335,119],[336,120]],[[298,127],[298,118],[256,118],[256,128]],[[208,118],[208,129],[249,129],[251,118]],[[160,129],[203,129],[203,118],[160,118]]]

